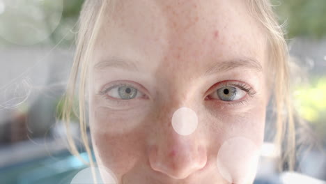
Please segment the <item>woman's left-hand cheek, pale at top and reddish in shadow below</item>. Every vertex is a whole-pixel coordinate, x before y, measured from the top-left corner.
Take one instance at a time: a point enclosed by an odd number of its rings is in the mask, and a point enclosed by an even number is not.
[[[117,178],[125,174],[142,154],[139,128],[144,116],[137,113],[111,112],[107,108],[90,109],[90,128],[98,164],[114,172]],[[137,140],[137,141],[135,141]]]

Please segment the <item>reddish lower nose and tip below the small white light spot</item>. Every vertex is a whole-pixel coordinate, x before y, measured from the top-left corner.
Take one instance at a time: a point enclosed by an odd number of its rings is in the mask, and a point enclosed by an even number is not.
[[[205,167],[207,153],[199,132],[180,135],[169,125],[160,128],[156,135],[148,154],[153,170],[174,179],[184,179]]]

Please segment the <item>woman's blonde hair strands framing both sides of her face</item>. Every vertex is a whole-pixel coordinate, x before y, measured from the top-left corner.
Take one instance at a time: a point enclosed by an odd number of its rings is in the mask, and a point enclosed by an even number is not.
[[[252,16],[261,22],[268,38],[269,63],[274,70],[271,81],[274,87],[274,109],[276,113],[277,133],[274,137],[279,150],[282,144],[286,145],[287,150],[281,151],[281,164],[288,162],[288,169],[292,170],[295,164],[295,123],[293,119],[292,102],[289,90],[289,63],[288,47],[284,39],[284,31],[279,25],[277,17],[272,9],[269,0],[247,0]],[[81,10],[79,18],[79,32],[77,36],[77,50],[75,61],[68,81],[68,89],[64,98],[63,121],[67,129],[70,152],[82,159],[77,150],[74,140],[70,135],[70,116],[72,113],[79,117],[81,139],[89,155],[89,164],[93,167],[95,162],[91,155],[91,147],[88,144],[86,135],[86,74],[88,72],[88,61],[91,56],[100,24],[108,13],[114,10],[114,1],[110,0],[86,0]],[[110,5],[110,6],[109,6]],[[108,8],[111,8],[108,10]],[[79,84],[77,85],[77,81]],[[78,93],[78,107],[74,108],[75,93]],[[283,141],[285,139],[285,141]],[[84,161],[86,163],[86,161]],[[280,164],[280,169],[281,169]]]

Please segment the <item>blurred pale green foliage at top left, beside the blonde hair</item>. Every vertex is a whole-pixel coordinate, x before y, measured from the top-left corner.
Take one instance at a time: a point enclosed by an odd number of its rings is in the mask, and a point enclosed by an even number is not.
[[[77,20],[83,3],[84,0],[62,0],[62,4],[61,1],[52,0],[7,1],[2,5],[4,11],[0,11],[0,28],[6,28],[0,29],[4,30],[0,35],[0,45],[71,45],[75,40],[74,32],[77,31]],[[24,8],[26,5],[30,5],[29,8]],[[59,25],[56,24],[54,15],[58,15]],[[22,30],[21,25],[28,25],[29,29]]]

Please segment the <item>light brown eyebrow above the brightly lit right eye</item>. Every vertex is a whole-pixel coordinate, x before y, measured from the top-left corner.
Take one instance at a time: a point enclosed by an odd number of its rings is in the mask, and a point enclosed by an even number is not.
[[[261,72],[263,67],[256,59],[233,59],[229,61],[222,61],[214,63],[208,70],[204,72],[204,75],[212,75],[217,72],[226,72],[235,68],[247,68]]]

